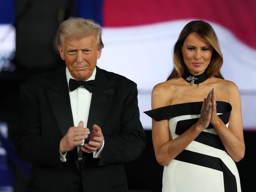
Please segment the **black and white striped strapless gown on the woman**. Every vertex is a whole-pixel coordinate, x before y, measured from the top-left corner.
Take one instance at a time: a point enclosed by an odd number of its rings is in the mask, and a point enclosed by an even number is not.
[[[174,139],[195,124],[202,102],[181,103],[145,112],[156,121],[168,119]],[[217,101],[217,114],[228,127],[232,107]],[[241,192],[235,162],[215,129],[208,126],[163,170],[163,192]]]

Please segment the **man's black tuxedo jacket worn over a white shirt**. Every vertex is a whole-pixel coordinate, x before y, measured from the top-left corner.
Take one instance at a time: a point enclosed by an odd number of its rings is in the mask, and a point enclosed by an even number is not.
[[[97,67],[87,127],[101,127],[105,144],[99,159],[83,153],[85,192],[128,191],[123,163],[141,155],[145,133],[139,120],[137,86]],[[27,192],[76,192],[77,149],[61,162],[59,143],[74,126],[65,68],[34,77],[20,86],[20,118],[15,148],[32,164]]]

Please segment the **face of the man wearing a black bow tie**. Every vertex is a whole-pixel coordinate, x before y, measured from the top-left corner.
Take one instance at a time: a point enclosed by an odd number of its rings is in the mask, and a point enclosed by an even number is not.
[[[65,60],[71,76],[77,81],[86,81],[93,73],[101,49],[96,46],[94,35],[80,39],[65,38],[58,46],[61,59]]]

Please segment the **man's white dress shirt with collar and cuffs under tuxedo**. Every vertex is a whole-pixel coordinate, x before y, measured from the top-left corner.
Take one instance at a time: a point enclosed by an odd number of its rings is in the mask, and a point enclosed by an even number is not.
[[[93,70],[93,74],[91,75],[91,77],[89,79],[87,79],[86,81],[94,80],[95,75],[96,75],[96,67]],[[67,82],[68,82],[68,86],[69,86],[69,79],[74,79],[74,78],[71,76],[67,67],[66,67],[66,76],[67,76]],[[71,104],[73,121],[74,121],[75,127],[78,126],[80,121],[83,121],[83,127],[87,127],[89,109],[90,109],[90,105],[91,105],[91,96],[92,96],[92,92],[89,92],[83,86],[78,87],[76,90],[73,90],[72,92],[70,92],[70,90],[69,90],[70,104]],[[83,144],[84,144],[84,140],[83,140]],[[104,147],[104,140],[103,140],[103,144],[102,144],[100,150],[93,152],[93,158],[100,157],[100,153],[101,153],[103,147]],[[79,150],[80,150],[80,147],[77,146],[77,151],[79,151]],[[62,154],[59,151],[59,154],[60,154],[60,159],[62,162],[67,161],[67,159],[66,159],[67,152]]]

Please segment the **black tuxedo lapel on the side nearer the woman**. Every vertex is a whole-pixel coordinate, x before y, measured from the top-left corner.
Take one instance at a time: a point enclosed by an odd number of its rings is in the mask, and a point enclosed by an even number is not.
[[[87,127],[93,131],[93,125],[102,127],[107,117],[115,93],[115,85],[106,77],[104,70],[96,66],[96,87],[92,94]],[[89,138],[87,138],[89,140]]]

